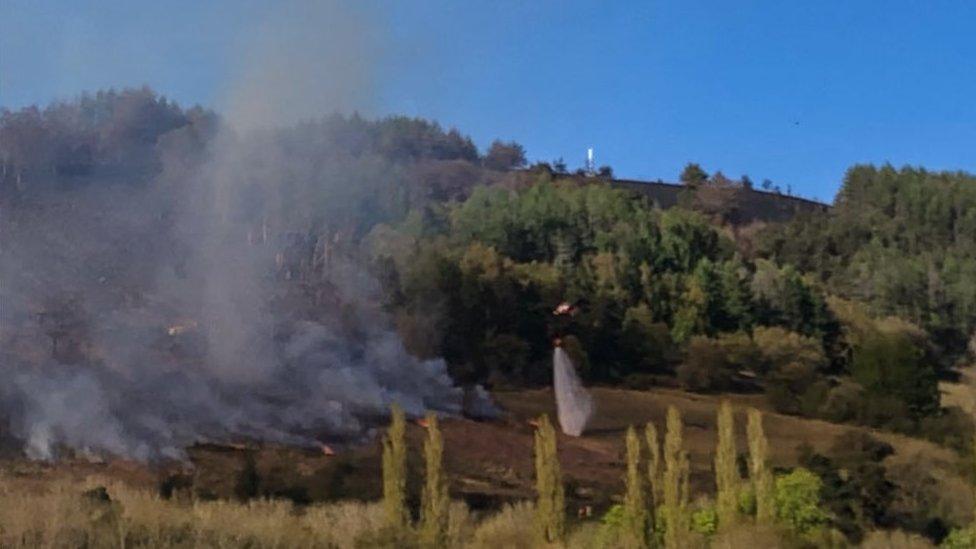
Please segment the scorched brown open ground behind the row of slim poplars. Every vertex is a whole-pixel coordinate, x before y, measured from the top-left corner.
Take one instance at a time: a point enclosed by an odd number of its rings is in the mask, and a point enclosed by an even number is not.
[[[600,512],[622,492],[623,434],[628,425],[642,427],[654,421],[661,433],[669,405],[682,412],[685,448],[692,463],[693,492],[714,490],[711,472],[715,446],[715,411],[718,397],[670,389],[627,391],[593,390],[597,414],[580,438],[559,435],[559,457],[571,506],[590,505]],[[445,466],[452,495],[475,509],[490,509],[534,494],[532,443],[529,421],[541,413],[554,417],[551,391],[505,392],[495,395],[505,409],[497,421],[446,419],[441,422]],[[744,452],[745,408],[762,408],[761,397],[730,397],[737,409],[738,448]],[[830,453],[836,439],[858,427],[836,425],[767,412],[765,428],[774,467],[795,465],[799,447],[806,443]],[[424,428],[410,423],[409,488],[419,499],[423,476],[421,449]],[[895,448],[889,465],[923,462],[938,482],[949,488],[965,486],[960,476],[960,457],[930,442],[889,433],[872,434]],[[59,464],[7,459],[2,469],[19,477],[38,480],[97,474],[117,478],[164,495],[198,498],[283,497],[299,503],[336,499],[376,499],[382,490],[380,444],[337,450],[327,456],[320,450],[270,445],[198,445],[188,450],[192,465],[146,466],[128,461],[91,463],[81,459]],[[959,490],[954,490],[959,491]],[[963,493],[964,492],[964,493]],[[960,497],[971,497],[963,490]],[[966,505],[966,502],[960,502]],[[970,500],[971,505],[971,500]]]

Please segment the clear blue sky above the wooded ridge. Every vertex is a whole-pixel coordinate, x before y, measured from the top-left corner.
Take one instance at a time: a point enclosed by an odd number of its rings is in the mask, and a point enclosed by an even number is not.
[[[825,200],[857,162],[976,171],[972,0],[0,0],[0,106],[148,84],[226,111],[279,42],[277,78],[355,81],[308,116],[424,116],[571,168],[592,146],[625,177],[696,161]]]

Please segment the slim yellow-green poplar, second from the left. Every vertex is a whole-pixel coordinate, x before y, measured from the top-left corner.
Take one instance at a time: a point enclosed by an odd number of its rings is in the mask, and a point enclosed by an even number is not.
[[[420,511],[420,536],[427,547],[444,547],[447,544],[450,497],[442,468],[443,456],[444,440],[437,425],[437,415],[428,413],[427,441],[424,444],[427,479]]]

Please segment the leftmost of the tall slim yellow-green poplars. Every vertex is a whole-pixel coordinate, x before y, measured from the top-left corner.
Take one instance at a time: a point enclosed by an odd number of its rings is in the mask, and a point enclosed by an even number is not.
[[[383,510],[387,526],[394,531],[410,524],[407,512],[407,421],[403,409],[390,407],[390,428],[383,437]]]

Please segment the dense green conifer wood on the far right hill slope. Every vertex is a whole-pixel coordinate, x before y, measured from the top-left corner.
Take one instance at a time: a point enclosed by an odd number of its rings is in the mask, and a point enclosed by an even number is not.
[[[768,231],[764,253],[937,336],[951,363],[976,328],[976,177],[854,166],[829,213]]]

